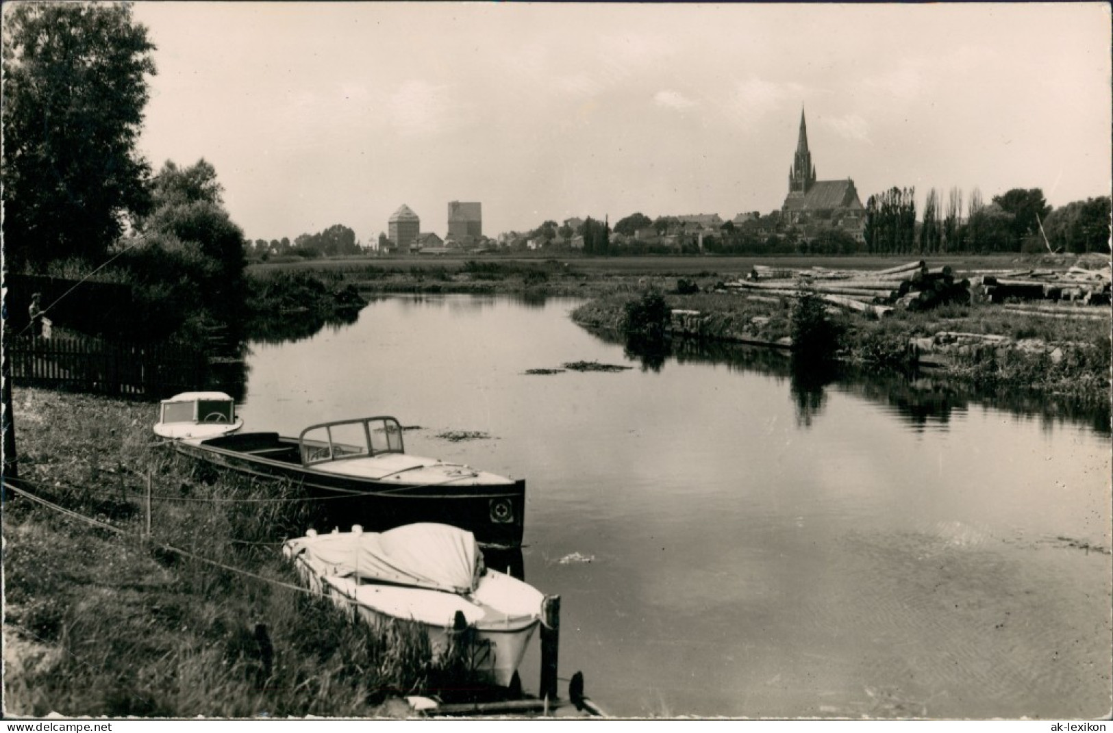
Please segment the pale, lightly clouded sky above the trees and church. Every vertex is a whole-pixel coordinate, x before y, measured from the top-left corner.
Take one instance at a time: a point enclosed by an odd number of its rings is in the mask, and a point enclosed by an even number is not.
[[[819,180],[1063,206],[1111,186],[1106,3],[138,2],[140,151],[216,168],[250,239],[403,204],[442,237],[546,219],[769,212]],[[944,197],[945,198],[945,197]]]

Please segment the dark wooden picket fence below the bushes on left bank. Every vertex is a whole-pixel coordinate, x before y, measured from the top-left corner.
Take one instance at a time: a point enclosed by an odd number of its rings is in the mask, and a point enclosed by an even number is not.
[[[198,350],[99,338],[6,339],[12,382],[102,395],[162,398],[205,385]]]

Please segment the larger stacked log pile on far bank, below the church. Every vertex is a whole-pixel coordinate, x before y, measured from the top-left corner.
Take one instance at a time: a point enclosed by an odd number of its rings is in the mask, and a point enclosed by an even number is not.
[[[894,308],[925,310],[944,303],[967,301],[969,280],[956,280],[949,266],[929,268],[923,260],[884,270],[774,268],[756,265],[728,290],[796,296],[814,293],[824,301],[883,318]]]

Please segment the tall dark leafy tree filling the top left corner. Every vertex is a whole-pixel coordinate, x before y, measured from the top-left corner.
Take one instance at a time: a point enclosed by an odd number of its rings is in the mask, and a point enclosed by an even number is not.
[[[19,3],[3,20],[7,256],[99,258],[149,206],[136,143],[155,46],[127,4]]]

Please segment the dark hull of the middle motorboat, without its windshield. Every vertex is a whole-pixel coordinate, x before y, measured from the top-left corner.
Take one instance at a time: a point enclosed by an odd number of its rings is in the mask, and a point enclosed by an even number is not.
[[[275,433],[240,433],[174,444],[180,454],[221,468],[302,486],[315,499],[317,528],[323,531],[361,525],[381,532],[435,522],[472,532],[484,547],[522,545],[524,481],[479,472],[440,481],[413,481],[404,472],[385,479],[352,476],[336,473],[335,466],[303,466],[297,446],[296,439]]]

